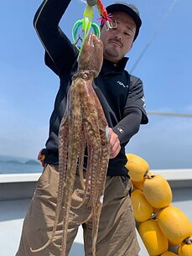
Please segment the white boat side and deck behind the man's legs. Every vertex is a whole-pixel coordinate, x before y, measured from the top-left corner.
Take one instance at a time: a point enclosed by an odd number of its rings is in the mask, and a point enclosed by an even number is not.
[[[178,206],[192,222],[192,169],[151,170],[163,175],[173,191],[172,205]],[[23,217],[25,216],[40,173],[0,175],[0,255],[14,256],[18,249]],[[138,233],[138,231],[137,231]],[[148,256],[138,234],[141,251]],[[84,256],[82,229],[70,250],[70,256]]]

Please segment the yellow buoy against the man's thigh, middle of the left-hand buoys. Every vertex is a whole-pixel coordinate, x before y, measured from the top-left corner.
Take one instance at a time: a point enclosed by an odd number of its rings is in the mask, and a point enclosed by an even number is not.
[[[149,205],[142,191],[135,190],[131,194],[132,207],[137,222],[147,221],[153,214],[153,207]]]

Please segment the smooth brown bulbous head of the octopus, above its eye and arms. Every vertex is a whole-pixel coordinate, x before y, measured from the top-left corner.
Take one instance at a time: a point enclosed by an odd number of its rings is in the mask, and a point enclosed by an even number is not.
[[[89,34],[81,46],[78,71],[99,75],[103,61],[103,44],[96,34]]]

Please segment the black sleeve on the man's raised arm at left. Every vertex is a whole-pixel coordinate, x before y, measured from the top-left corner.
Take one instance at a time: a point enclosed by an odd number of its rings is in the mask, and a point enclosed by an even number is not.
[[[45,49],[45,64],[59,76],[60,71],[69,69],[76,58],[75,46],[59,26],[70,1],[44,0],[34,15],[34,29]]]

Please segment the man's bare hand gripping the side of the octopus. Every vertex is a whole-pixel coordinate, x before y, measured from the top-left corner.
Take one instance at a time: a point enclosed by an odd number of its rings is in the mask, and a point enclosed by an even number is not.
[[[113,132],[112,128],[109,128],[109,134],[110,134],[110,159],[113,159],[119,154],[119,151],[121,150],[120,141],[118,138],[118,135]]]

